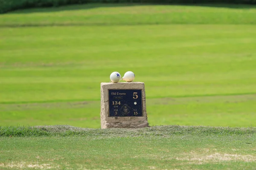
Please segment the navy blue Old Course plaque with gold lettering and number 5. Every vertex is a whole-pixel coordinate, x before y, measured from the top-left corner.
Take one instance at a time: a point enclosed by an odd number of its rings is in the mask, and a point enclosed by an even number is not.
[[[143,116],[141,89],[109,89],[109,117]]]

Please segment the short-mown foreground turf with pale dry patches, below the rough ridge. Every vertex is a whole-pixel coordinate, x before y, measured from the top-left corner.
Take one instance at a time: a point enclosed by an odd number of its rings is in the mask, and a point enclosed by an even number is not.
[[[250,136],[4,137],[0,169],[253,170],[255,145],[246,144],[252,140]]]

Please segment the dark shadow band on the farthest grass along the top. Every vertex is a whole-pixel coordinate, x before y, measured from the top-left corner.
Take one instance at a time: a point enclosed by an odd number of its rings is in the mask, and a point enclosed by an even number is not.
[[[83,10],[101,7],[124,7],[124,6],[198,6],[198,7],[213,7],[213,8],[235,8],[235,9],[250,9],[256,8],[256,4],[148,4],[148,3],[89,3],[76,4],[58,7],[44,7],[44,8],[26,8],[10,11],[8,13],[34,13],[34,12],[57,12],[57,11],[71,11]]]

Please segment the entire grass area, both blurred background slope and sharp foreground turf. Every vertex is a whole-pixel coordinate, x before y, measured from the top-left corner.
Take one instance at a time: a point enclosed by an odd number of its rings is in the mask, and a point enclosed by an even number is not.
[[[88,4],[0,15],[0,169],[254,169],[255,14]],[[151,127],[99,129],[100,83],[129,70]]]

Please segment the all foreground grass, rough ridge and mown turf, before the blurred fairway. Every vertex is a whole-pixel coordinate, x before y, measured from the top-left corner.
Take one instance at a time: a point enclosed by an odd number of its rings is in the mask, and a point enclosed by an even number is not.
[[[253,169],[255,132],[254,127],[0,127],[0,136],[14,135],[0,137],[0,168]]]

